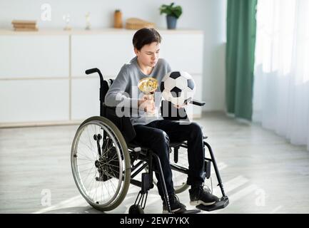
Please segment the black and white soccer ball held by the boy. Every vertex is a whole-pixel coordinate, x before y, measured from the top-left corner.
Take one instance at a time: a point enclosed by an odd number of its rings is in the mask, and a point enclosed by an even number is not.
[[[165,100],[174,105],[183,105],[192,100],[196,86],[190,74],[184,71],[171,71],[161,81],[160,90]]]

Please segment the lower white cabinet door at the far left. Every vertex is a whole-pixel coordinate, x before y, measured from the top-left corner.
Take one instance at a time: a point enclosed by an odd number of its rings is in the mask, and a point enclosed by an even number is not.
[[[69,80],[0,81],[0,124],[69,120]]]

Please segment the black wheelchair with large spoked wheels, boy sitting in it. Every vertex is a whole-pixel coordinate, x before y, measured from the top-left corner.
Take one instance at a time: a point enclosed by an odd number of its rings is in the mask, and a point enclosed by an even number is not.
[[[100,116],[93,116],[83,121],[72,142],[71,170],[78,191],[88,204],[95,209],[106,212],[115,209],[123,202],[130,184],[136,185],[141,187],[141,190],[128,212],[129,214],[143,214],[148,190],[156,185],[156,177],[153,176],[153,172],[157,172],[161,180],[168,212],[171,213],[158,155],[149,148],[138,145],[138,142],[134,142],[136,133],[129,117],[118,117],[116,108],[104,104],[105,95],[113,80],[104,81],[98,68],[91,68],[85,73],[87,75],[98,73],[100,77]],[[176,108],[174,108],[177,112],[176,117],[171,117],[173,105],[167,101],[164,102],[166,103],[162,103],[161,111],[163,106],[166,105],[169,110],[168,116],[163,117],[164,119],[187,120],[187,116],[179,115],[178,112],[181,109]],[[197,100],[192,100],[191,103],[193,105],[205,105],[205,103]],[[183,109],[183,111],[185,110]],[[210,206],[198,205],[196,210],[188,210],[188,213],[200,212],[201,209],[206,211],[223,209],[229,203],[228,196],[223,190],[223,183],[211,145],[206,142],[206,138],[204,136],[204,150],[207,147],[211,156],[210,158],[205,157],[206,178],[211,177],[212,164],[222,197],[215,204]],[[188,145],[187,142],[170,142],[169,147],[174,188],[177,194],[188,188],[188,185],[186,185],[188,175],[186,148]],[[136,180],[137,175],[140,176],[140,180]],[[176,180],[176,177],[180,180]]]

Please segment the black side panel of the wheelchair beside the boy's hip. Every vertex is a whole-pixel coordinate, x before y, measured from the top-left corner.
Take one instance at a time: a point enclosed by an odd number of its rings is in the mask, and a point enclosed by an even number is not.
[[[126,116],[118,117],[118,115],[116,115],[116,108],[108,107],[105,104],[102,105],[102,109],[103,117],[108,118],[108,120],[111,120],[111,122],[117,126],[117,128],[123,134],[126,142],[130,142],[133,140],[133,138],[135,138],[136,132],[133,128],[130,118]]]

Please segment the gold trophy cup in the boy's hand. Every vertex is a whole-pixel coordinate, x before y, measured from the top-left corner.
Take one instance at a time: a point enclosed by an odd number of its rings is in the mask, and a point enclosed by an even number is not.
[[[140,81],[138,81],[138,88],[145,95],[147,95],[148,98],[151,98],[154,102],[154,92],[158,88],[158,80],[156,80],[156,78],[142,78]],[[156,105],[155,105],[155,110],[148,111],[146,115],[147,116],[158,115]]]

